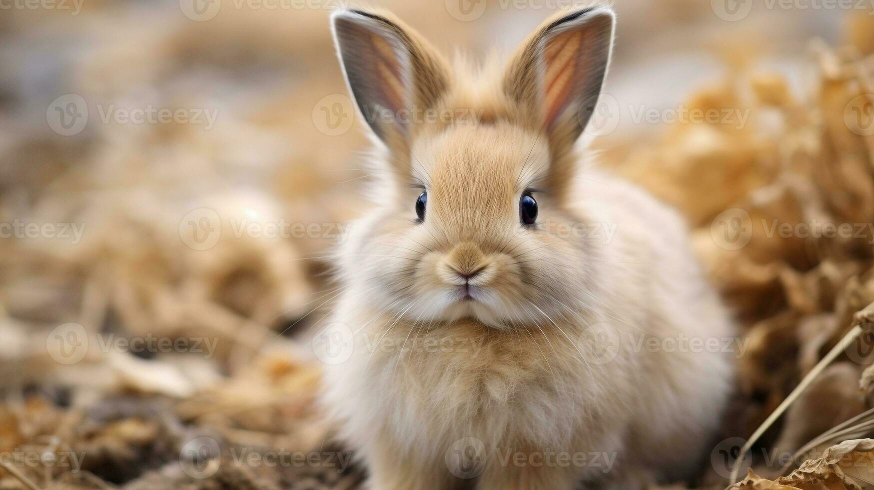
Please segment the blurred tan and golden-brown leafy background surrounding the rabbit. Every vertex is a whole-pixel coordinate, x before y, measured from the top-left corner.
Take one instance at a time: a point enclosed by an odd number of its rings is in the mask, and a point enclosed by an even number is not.
[[[570,4],[371,2],[475,58]],[[330,248],[365,205],[365,128],[329,33],[343,5],[0,0],[0,488],[360,485],[314,404],[326,360],[309,346]],[[691,482],[721,488],[874,301],[874,8],[615,9],[593,149],[688,218],[747,346]],[[869,344],[756,447],[792,455],[867,413]],[[313,459],[267,464],[287,452]]]

